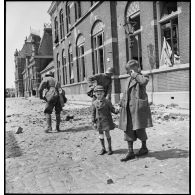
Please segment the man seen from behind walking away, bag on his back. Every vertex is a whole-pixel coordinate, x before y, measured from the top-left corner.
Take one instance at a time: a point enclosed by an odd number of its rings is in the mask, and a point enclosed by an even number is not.
[[[61,85],[54,78],[54,74],[51,71],[48,74],[46,74],[45,78],[42,80],[39,86],[40,99],[46,100],[46,105],[44,110],[46,121],[47,121],[47,128],[45,130],[46,133],[60,131],[59,129],[60,112],[62,111],[62,106],[60,103],[59,88],[61,88]],[[47,90],[45,93],[45,97],[43,97],[44,89]],[[51,114],[54,107],[55,107],[55,114],[56,114],[56,130],[52,131]]]

